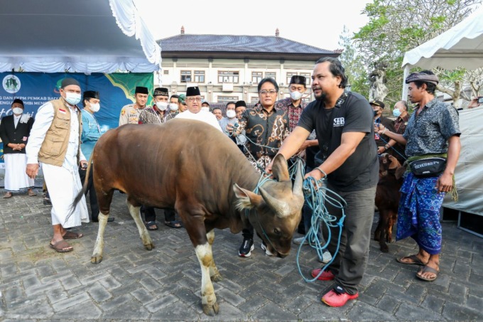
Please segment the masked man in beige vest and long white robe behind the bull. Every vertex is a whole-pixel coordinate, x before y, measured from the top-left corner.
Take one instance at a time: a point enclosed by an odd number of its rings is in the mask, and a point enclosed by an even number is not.
[[[52,202],[53,237],[50,247],[57,252],[73,250],[65,240],[82,237],[82,234],[65,228],[89,222],[84,195],[75,209],[71,209],[75,196],[82,190],[77,166],[87,166],[80,149],[82,133],[80,84],[65,78],[60,85],[60,99],[46,102],[38,108],[28,144],[27,175],[35,178],[39,161]],[[70,214],[71,215],[68,215]]]

